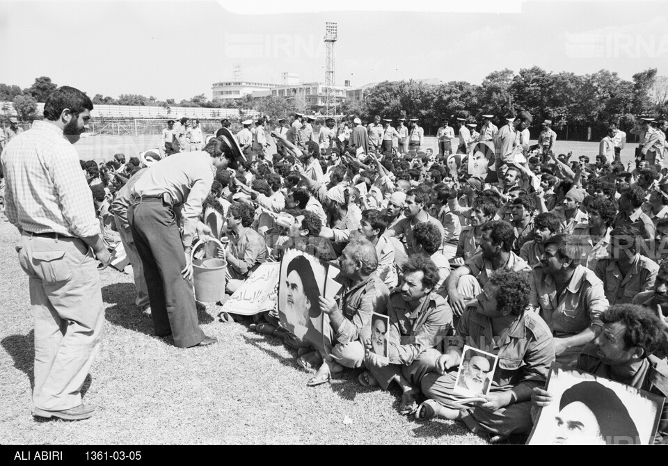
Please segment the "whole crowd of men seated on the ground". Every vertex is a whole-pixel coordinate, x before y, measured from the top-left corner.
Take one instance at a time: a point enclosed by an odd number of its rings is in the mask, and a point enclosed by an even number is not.
[[[299,365],[315,371],[308,385],[361,368],[361,385],[401,388],[401,413],[456,419],[493,440],[530,432],[555,361],[668,394],[668,179],[657,166],[526,154],[488,182],[467,175],[463,155],[452,170],[447,152],[271,136],[278,153],[260,147],[218,169],[198,233],[230,238],[228,294],[288,248],[340,268],[340,294],[318,302],[330,354],[282,328],[276,312],[251,325],[299,349]],[[118,233],[134,266],[136,304],[150,312],[127,236],[125,183],[138,162],[119,155],[102,173],[82,168],[105,232]],[[222,233],[203,224],[212,211]],[[390,318],[387,358],[370,351],[372,312]],[[499,357],[484,403],[461,403],[454,390],[465,344]],[[667,439],[665,408],[656,442]]]

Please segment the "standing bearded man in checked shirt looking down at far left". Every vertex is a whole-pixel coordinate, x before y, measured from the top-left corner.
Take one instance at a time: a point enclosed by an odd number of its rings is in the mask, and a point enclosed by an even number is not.
[[[5,213],[18,228],[19,263],[29,276],[35,317],[33,415],[86,419],[81,387],[100,348],[104,323],[100,273],[109,250],[90,199],[79,155],[93,103],[80,90],[54,90],[43,121],[19,134],[2,154]]]

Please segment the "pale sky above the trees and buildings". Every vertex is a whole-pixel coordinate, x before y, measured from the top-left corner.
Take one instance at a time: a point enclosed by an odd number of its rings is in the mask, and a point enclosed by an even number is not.
[[[539,66],[623,79],[668,74],[668,1],[0,0],[0,83],[118,97],[189,99],[232,80],[324,81],[325,22],[337,23],[335,81],[479,84]],[[332,9],[333,8],[333,9]],[[383,8],[377,10],[376,8]]]

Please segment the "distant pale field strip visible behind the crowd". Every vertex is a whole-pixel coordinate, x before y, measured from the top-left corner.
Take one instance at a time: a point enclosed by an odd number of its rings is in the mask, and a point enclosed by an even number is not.
[[[438,145],[436,143],[436,138],[426,137],[425,147],[431,147],[435,152],[438,152]],[[90,136],[86,138],[81,138],[77,145],[77,152],[79,152],[79,158],[81,160],[96,160],[107,161],[113,158],[113,154],[121,152],[125,154],[126,158],[130,156],[136,156],[139,152],[149,149],[155,149],[160,145],[160,136]],[[536,141],[532,140],[531,144],[535,144]],[[635,144],[628,143],[625,150],[621,153],[621,159],[624,163],[631,161],[633,159],[633,147]],[[591,162],[594,162],[596,155],[598,155],[598,143],[587,143],[577,140],[557,140],[557,145],[555,146],[557,153],[567,154],[568,152],[573,152],[573,157],[580,155],[587,155]],[[270,150],[271,152],[271,150]]]

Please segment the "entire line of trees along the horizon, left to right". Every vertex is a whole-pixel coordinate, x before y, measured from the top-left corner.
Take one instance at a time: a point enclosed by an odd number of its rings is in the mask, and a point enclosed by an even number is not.
[[[19,118],[33,120],[37,102],[56,89],[49,77],[38,77],[29,88],[0,84],[0,102],[13,102]],[[305,99],[283,99],[250,95],[234,101],[209,101],[204,94],[191,99],[159,100],[138,94],[122,94],[118,98],[95,94],[93,104],[207,107],[253,109],[271,117],[288,117],[295,111],[316,113]],[[468,118],[480,121],[481,115],[492,113],[498,123],[510,113],[529,111],[534,125],[552,120],[552,128],[562,139],[586,139],[591,128],[594,137],[605,135],[605,127],[614,122],[629,129],[640,114],[668,114],[668,77],[658,76],[656,68],[633,75],[631,81],[621,79],[616,72],[600,70],[593,74],[548,72],[541,67],[523,68],[517,74],[512,70],[494,71],[482,83],[449,81],[427,84],[421,81],[384,81],[365,91],[363,102],[344,102],[337,107],[338,114],[360,115],[372,120],[383,118],[420,118],[420,124],[433,132],[443,118]],[[433,129],[433,131],[429,131]]]

